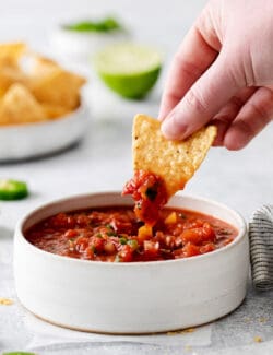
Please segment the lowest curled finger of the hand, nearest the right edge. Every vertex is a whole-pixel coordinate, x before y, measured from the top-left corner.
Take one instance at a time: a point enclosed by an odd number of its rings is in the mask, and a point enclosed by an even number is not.
[[[242,106],[226,131],[223,144],[228,150],[240,150],[257,135],[273,117],[273,91],[260,87]]]

